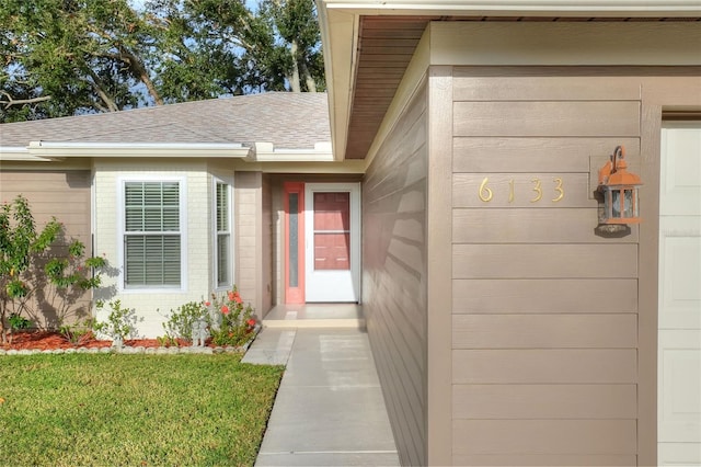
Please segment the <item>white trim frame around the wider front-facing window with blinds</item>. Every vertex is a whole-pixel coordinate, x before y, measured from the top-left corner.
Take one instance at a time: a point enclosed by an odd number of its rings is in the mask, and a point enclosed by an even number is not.
[[[158,182],[179,184],[179,214],[180,214],[180,287],[143,287],[129,286],[126,284],[126,184],[134,182]],[[119,261],[118,289],[123,294],[162,294],[187,291],[187,183],[186,178],[181,175],[126,175],[117,178],[117,255]]]

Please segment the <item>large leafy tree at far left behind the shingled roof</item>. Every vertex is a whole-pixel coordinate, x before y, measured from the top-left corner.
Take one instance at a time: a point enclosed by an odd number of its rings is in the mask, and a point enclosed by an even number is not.
[[[150,26],[127,0],[0,0],[0,121],[161,103]]]

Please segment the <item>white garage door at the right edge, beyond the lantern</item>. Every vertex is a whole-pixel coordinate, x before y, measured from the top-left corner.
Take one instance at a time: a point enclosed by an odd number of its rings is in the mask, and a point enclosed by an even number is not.
[[[658,462],[701,465],[701,122],[662,133]]]

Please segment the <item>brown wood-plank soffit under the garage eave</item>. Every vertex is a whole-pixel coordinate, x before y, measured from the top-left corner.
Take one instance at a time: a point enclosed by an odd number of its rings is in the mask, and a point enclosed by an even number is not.
[[[360,16],[346,159],[365,159],[430,21],[701,21],[699,18]]]

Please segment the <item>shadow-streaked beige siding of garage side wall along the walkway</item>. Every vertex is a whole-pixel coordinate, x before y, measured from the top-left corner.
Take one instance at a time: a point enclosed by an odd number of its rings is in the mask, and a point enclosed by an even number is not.
[[[403,465],[426,465],[426,93],[367,171],[363,303]]]

